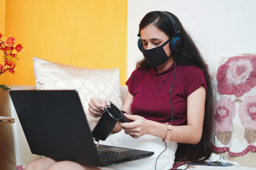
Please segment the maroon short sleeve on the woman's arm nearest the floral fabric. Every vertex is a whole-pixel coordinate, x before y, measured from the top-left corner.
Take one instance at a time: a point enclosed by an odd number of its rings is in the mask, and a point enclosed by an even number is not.
[[[204,72],[198,67],[193,67],[188,71],[188,74],[186,74],[184,85],[184,91],[187,97],[191,93],[195,92],[195,90],[197,90],[200,86],[203,86],[205,90],[207,90]]]

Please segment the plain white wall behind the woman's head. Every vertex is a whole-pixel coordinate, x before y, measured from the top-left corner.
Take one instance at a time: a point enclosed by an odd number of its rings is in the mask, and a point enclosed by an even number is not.
[[[255,7],[254,0],[128,0],[127,77],[143,58],[137,34],[148,11],[175,14],[212,64],[222,56],[256,52]]]

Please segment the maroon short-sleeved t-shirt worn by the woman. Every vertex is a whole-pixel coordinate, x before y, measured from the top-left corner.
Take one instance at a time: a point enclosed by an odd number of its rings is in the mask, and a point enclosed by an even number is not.
[[[187,98],[200,86],[207,89],[204,72],[195,66],[176,64],[176,76],[171,94],[173,106],[172,125],[187,124]],[[126,85],[133,101],[131,111],[148,120],[170,123],[172,107],[169,101],[174,76],[174,64],[162,73],[154,68],[141,71],[135,69]]]

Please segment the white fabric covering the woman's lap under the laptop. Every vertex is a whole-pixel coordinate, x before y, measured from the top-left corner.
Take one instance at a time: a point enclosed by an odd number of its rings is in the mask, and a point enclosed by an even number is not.
[[[125,148],[134,148],[138,150],[148,150],[154,152],[154,155],[144,159],[132,160],[114,166],[108,166],[111,169],[136,170],[136,169],[154,169],[158,155],[163,152],[165,145],[162,139],[151,135],[144,135],[135,139],[124,133],[124,130],[109,136],[106,141],[100,141],[102,145],[120,146]],[[177,143],[167,142],[167,150],[157,160],[157,170],[172,169],[177,150]],[[104,169],[104,168],[102,168]]]

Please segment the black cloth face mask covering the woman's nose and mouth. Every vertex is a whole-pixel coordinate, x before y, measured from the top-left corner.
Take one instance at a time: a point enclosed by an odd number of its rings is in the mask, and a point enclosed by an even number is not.
[[[166,60],[168,60],[172,56],[172,53],[171,53],[170,56],[168,57],[164,52],[164,48],[163,48],[164,45],[166,45],[170,41],[171,39],[168,39],[165,43],[163,43],[163,45],[157,46],[156,48],[152,48],[150,50],[145,50],[144,48],[142,48],[142,53],[145,59],[150,64],[150,66],[152,67],[161,66],[162,64],[164,64],[164,62],[166,62]]]

